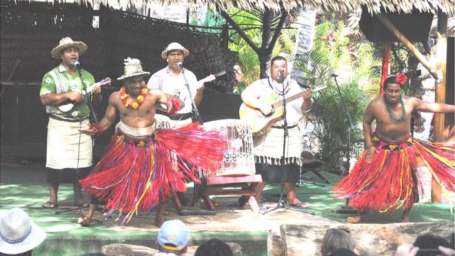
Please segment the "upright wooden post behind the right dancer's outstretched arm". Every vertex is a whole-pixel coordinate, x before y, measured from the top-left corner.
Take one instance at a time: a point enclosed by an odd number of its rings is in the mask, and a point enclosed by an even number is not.
[[[436,39],[436,68],[442,75],[436,79],[436,102],[445,103],[445,81],[447,66],[447,14],[438,10],[438,37]],[[444,114],[434,115],[434,140],[443,139]],[[441,202],[441,186],[432,179],[432,202]]]

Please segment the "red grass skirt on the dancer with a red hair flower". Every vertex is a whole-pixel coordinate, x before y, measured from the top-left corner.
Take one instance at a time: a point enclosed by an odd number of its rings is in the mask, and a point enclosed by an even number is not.
[[[412,207],[418,201],[418,166],[427,166],[432,176],[447,190],[455,191],[454,144],[431,143],[407,139],[400,144],[387,144],[373,137],[378,150],[367,163],[365,150],[349,175],[332,190],[338,197],[350,199],[350,206],[365,210],[394,210]],[[401,201],[400,203],[400,200]]]

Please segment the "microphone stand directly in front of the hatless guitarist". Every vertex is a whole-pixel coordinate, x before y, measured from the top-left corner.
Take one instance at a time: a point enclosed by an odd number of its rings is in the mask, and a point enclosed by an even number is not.
[[[286,155],[286,137],[289,136],[289,131],[287,130],[287,118],[286,118],[287,110],[286,110],[285,86],[284,86],[285,77],[284,77],[282,71],[280,71],[279,74],[281,77],[281,85],[283,86],[283,90],[282,90],[283,95],[281,95],[283,97],[283,155],[281,155],[281,192],[280,192],[280,199],[278,201],[278,204],[276,204],[276,206],[274,208],[264,210],[261,213],[261,215],[265,215],[265,213],[270,213],[270,212],[272,212],[276,209],[280,209],[280,208],[296,210],[301,213],[308,213],[310,215],[314,215],[314,213],[309,212],[307,210],[301,210],[301,209],[297,209],[297,208],[294,208],[291,206],[285,206],[285,203],[283,200],[283,188],[284,188],[284,184],[286,182],[287,171],[288,171],[287,165],[285,164],[285,155]]]

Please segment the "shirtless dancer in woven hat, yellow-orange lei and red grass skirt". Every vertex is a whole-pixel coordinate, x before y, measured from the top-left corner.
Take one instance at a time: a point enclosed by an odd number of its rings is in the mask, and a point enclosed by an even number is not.
[[[120,116],[117,136],[112,137],[108,152],[92,173],[80,181],[82,188],[92,195],[88,214],[78,221],[81,226],[90,225],[98,199],[105,201],[104,210],[109,213],[125,214],[122,224],[137,210],[156,206],[154,224],[161,226],[165,200],[174,191],[185,191],[187,179],[199,181],[185,161],[204,170],[216,170],[223,159],[225,141],[213,133],[209,135],[198,124],[181,130],[155,129],[156,105],[164,104],[168,112],[175,112],[183,107],[183,101],[161,90],[149,90],[143,76],[150,73],[142,70],[139,59],[125,61],[124,75],[118,79],[125,86],[110,95],[100,123],[81,130],[90,136],[99,135]]]

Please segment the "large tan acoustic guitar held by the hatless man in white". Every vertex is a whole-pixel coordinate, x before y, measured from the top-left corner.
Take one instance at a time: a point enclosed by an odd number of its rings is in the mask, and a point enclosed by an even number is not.
[[[312,92],[318,92],[320,90],[324,90],[325,88],[327,88],[327,86],[319,86],[312,89]],[[290,101],[293,101],[294,99],[299,99],[300,97],[302,97],[301,92],[291,97],[288,97],[285,99],[286,104]],[[267,132],[267,130],[269,130],[269,128],[274,123],[276,123],[276,121],[280,121],[283,119],[284,112],[283,99],[276,93],[272,93],[268,97],[259,100],[265,103],[272,104],[273,110],[270,115],[267,116],[263,115],[261,110],[251,108],[250,106],[247,106],[244,103],[241,104],[239,109],[240,119],[250,125],[251,131],[254,136],[261,136],[265,132]]]

